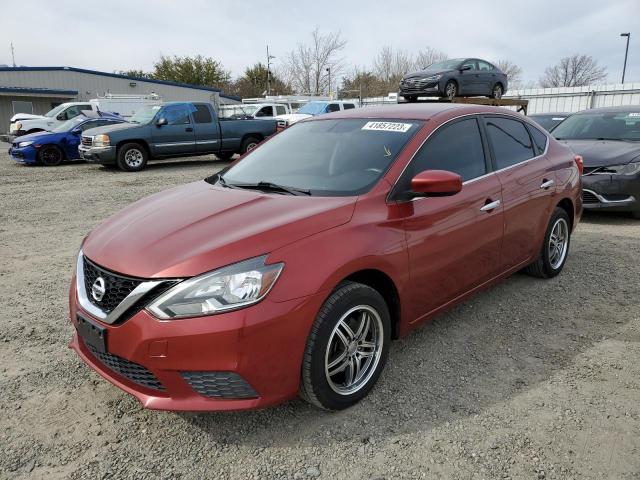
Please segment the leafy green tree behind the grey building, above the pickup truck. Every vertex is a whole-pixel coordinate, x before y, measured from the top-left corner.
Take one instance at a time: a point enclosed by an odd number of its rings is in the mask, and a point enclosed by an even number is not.
[[[220,62],[202,55],[195,57],[162,55],[153,65],[152,75],[158,80],[217,88],[228,87],[231,80],[231,74]]]

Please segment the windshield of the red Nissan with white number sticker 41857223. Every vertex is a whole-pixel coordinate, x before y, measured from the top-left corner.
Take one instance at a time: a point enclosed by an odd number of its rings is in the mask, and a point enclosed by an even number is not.
[[[267,182],[318,196],[360,195],[380,179],[421,125],[351,118],[298,123],[222,177],[229,187]]]

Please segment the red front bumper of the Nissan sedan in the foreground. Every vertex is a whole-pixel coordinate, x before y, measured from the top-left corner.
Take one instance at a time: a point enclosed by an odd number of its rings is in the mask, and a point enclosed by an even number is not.
[[[109,362],[101,361],[85,345],[77,331],[69,347],[146,408],[176,411],[262,408],[297,395],[307,335],[323,300],[321,295],[286,302],[266,298],[233,312],[170,321],[158,320],[142,310],[120,324],[108,325],[80,309],[74,278],[70,291],[74,326],[77,313],[81,313],[104,327],[108,354],[147,370],[162,388],[148,388],[136,382],[135,377],[111,368]],[[255,395],[227,398],[198,393],[202,384],[193,378],[201,379],[201,374],[208,372],[234,375]]]

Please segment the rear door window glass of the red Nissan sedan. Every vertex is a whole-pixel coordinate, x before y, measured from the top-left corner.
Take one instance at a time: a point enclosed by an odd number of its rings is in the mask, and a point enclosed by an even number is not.
[[[489,117],[486,119],[486,125],[498,170],[535,156],[531,138],[522,122],[510,118]]]

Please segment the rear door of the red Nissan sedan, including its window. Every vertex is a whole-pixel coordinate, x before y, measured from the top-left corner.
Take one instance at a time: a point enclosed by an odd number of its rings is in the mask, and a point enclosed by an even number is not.
[[[507,270],[538,253],[551,214],[555,174],[523,122],[485,116],[484,123],[502,184],[505,231],[500,263]]]

